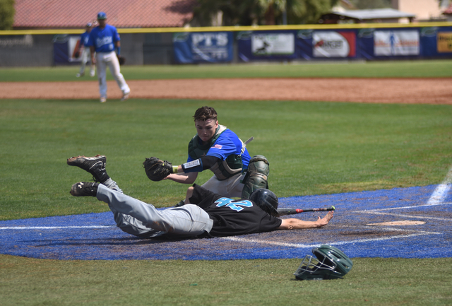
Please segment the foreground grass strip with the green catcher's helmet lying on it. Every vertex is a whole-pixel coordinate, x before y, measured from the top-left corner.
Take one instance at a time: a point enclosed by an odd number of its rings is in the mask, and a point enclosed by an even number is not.
[[[451,258],[434,264],[432,259],[354,259],[352,271],[334,281],[296,281],[292,273],[300,261],[55,261],[0,255],[1,305],[452,302]]]

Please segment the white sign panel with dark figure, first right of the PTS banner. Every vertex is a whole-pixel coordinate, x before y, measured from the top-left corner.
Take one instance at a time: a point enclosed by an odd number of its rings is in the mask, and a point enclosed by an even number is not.
[[[292,33],[253,34],[251,52],[254,55],[278,55],[295,53],[295,35]]]

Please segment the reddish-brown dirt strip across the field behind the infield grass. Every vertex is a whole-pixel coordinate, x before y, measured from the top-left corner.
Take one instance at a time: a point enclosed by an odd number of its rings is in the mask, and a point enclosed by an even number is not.
[[[130,98],[452,104],[452,78],[209,78],[127,81]],[[97,81],[0,83],[0,98],[98,99]],[[121,98],[114,81],[109,99]]]

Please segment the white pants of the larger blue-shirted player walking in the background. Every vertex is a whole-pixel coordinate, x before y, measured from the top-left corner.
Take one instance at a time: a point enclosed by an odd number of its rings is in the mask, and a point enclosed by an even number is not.
[[[130,93],[130,88],[121,74],[119,69],[119,61],[116,53],[112,52],[97,52],[96,53],[97,78],[99,78],[99,92],[100,98],[107,98],[107,66],[112,73],[119,89],[123,94]]]

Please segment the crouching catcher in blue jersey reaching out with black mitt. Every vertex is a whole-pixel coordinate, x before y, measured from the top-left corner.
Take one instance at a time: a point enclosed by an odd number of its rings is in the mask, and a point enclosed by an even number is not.
[[[197,134],[189,143],[189,156],[183,165],[150,158],[145,160],[150,180],[173,180],[193,184],[198,172],[211,170],[213,177],[202,185],[205,189],[230,198],[248,199],[251,192],[268,188],[270,167],[263,155],[250,157],[246,144],[226,126],[218,124],[213,107],[203,106],[194,114]],[[183,205],[181,201],[178,205]]]

